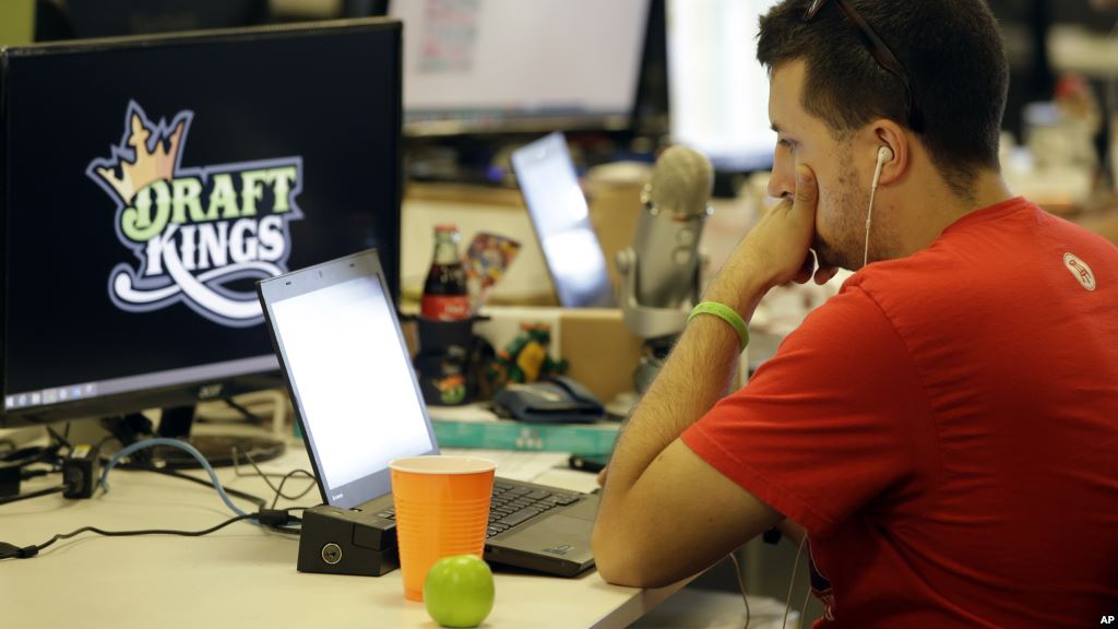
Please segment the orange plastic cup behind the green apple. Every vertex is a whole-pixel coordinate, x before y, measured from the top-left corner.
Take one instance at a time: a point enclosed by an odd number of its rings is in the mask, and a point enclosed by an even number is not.
[[[496,463],[438,454],[396,459],[388,467],[404,598],[421,601],[423,582],[436,561],[482,556]]]

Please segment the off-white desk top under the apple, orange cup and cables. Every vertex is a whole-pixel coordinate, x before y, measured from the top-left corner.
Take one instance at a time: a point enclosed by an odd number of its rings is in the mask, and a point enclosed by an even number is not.
[[[310,469],[294,445],[268,470]],[[498,473],[501,473],[500,468]],[[272,494],[258,478],[219,470],[222,484]],[[58,481],[25,484],[25,491]],[[42,479],[36,479],[42,480]],[[297,480],[297,481],[296,481]],[[307,481],[292,480],[294,492]],[[0,506],[0,541],[27,546],[82,526],[108,529],[201,529],[233,514],[207,487],[151,472],[113,470],[110,491],[89,500],[60,494]],[[249,506],[235,498],[244,510]],[[318,490],[297,503],[319,503]],[[295,570],[299,541],[236,523],[205,537],[103,537],[59,541],[39,556],[0,562],[0,626],[97,628],[178,627],[437,627],[423,603],[405,601],[399,571],[385,576],[306,574]],[[683,583],[638,590],[578,579],[496,570],[496,601],[482,627],[626,627]]]

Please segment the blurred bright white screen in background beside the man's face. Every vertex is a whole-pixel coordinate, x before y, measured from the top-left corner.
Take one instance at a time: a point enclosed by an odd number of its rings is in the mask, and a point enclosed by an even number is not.
[[[757,63],[758,18],[775,0],[667,0],[669,128],[716,170],[773,167],[768,73]]]

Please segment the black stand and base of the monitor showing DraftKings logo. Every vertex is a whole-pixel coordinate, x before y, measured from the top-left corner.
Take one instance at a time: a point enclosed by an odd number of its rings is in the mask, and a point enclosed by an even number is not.
[[[163,409],[162,419],[159,422],[159,429],[154,436],[181,439],[190,443],[215,468],[229,467],[237,463],[248,464],[245,453],[252,457],[253,461],[260,462],[275,459],[284,452],[284,442],[271,436],[191,434],[193,420],[193,405]],[[135,436],[139,438],[140,435],[136,434]],[[141,452],[145,454],[141,454]],[[141,452],[136,452],[139,456],[138,459],[159,468],[189,469],[201,467],[201,463],[189,452],[173,445],[155,445]]]

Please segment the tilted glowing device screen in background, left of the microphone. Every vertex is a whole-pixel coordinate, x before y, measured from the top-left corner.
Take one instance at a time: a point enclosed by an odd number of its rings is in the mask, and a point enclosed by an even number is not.
[[[563,308],[612,308],[606,256],[560,132],[512,152],[512,169]]]

